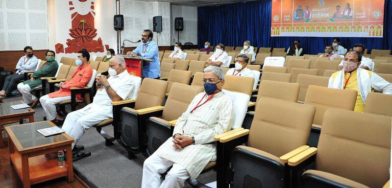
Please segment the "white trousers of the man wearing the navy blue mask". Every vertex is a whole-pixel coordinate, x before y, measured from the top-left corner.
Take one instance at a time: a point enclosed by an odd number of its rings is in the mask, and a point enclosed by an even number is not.
[[[165,180],[161,182],[161,174],[170,166]],[[190,177],[188,171],[181,165],[152,154],[144,161],[142,188],[183,188]]]

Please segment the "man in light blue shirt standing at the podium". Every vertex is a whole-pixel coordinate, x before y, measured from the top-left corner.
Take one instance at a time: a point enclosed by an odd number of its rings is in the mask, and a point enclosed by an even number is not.
[[[146,29],[142,34],[142,44],[140,44],[132,52],[128,51],[127,55],[137,55],[148,59],[152,59],[152,62],[145,61],[143,63],[143,77],[145,78],[157,78],[161,76],[160,62],[158,56],[158,45],[152,41],[152,31]]]

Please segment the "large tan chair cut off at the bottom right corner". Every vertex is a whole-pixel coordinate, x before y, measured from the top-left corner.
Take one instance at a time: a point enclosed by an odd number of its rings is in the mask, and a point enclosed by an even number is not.
[[[315,163],[300,188],[389,187],[391,117],[328,109],[322,127],[318,148],[289,159],[290,166]]]

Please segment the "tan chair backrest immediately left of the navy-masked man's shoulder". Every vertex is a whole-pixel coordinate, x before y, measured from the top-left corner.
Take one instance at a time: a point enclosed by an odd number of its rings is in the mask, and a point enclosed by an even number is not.
[[[203,88],[182,83],[173,83],[163,109],[162,119],[171,121],[184,113],[195,96],[203,92]]]

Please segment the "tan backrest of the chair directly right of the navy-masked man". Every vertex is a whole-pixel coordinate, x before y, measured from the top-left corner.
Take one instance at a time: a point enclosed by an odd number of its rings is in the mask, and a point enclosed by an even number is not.
[[[306,145],[315,107],[271,98],[256,105],[247,146],[282,156]]]

